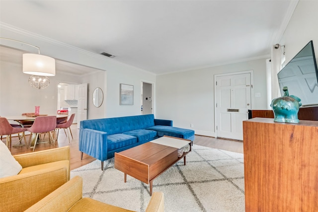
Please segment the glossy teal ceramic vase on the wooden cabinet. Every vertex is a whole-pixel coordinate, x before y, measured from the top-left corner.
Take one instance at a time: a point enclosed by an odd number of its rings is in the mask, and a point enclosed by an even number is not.
[[[284,96],[273,99],[270,106],[274,111],[274,122],[299,123],[298,111],[301,99],[289,95],[288,87],[283,88]]]

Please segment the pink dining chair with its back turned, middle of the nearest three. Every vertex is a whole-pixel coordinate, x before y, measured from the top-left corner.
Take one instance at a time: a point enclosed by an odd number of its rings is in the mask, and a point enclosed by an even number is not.
[[[31,133],[28,145],[31,144],[32,134],[35,135],[33,151],[35,149],[36,143],[38,143],[38,138],[40,133],[49,133],[49,142],[55,145],[55,139],[52,136],[52,131],[56,128],[56,116],[38,116],[35,118],[33,125],[27,128],[27,131]],[[34,137],[33,137],[34,138]],[[51,141],[52,140],[52,141]]]

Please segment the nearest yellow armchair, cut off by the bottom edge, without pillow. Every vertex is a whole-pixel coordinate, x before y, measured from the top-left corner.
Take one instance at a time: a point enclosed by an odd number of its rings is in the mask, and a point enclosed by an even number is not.
[[[69,182],[40,200],[25,212],[132,212],[116,206],[82,198],[82,178],[75,176]],[[154,192],[146,212],[163,212],[162,192]]]

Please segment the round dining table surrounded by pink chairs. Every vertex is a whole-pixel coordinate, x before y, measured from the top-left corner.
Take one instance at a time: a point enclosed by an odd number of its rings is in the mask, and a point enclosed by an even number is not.
[[[23,126],[23,121],[30,121],[30,122],[34,122],[35,118],[36,117],[39,117],[39,116],[56,116],[57,118],[57,122],[58,123],[61,123],[63,121],[67,121],[67,118],[68,118],[68,114],[54,114],[54,115],[51,115],[51,114],[39,114],[39,115],[15,115],[15,116],[4,116],[8,121],[15,121],[17,123],[19,123],[19,125],[21,127],[24,127]],[[36,138],[36,134],[35,133],[32,133],[32,138],[31,138],[31,145],[34,145],[35,143],[35,138]],[[24,145],[24,144],[18,144],[18,145]],[[18,146],[18,145],[15,145],[15,146]]]

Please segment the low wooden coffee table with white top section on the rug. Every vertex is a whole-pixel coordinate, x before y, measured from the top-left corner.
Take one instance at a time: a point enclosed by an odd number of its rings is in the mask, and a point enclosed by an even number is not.
[[[150,196],[153,194],[153,180],[165,170],[179,161],[184,160],[190,152],[184,152],[178,157],[178,149],[191,141],[164,136],[133,148],[115,152],[115,168],[124,172],[124,182],[127,182],[127,174],[150,184]]]

